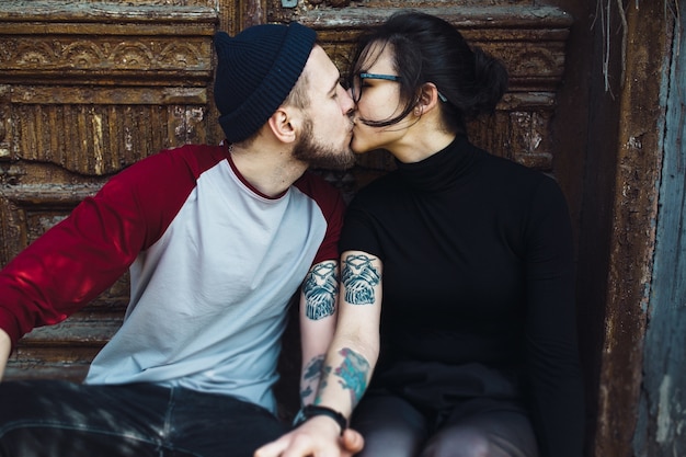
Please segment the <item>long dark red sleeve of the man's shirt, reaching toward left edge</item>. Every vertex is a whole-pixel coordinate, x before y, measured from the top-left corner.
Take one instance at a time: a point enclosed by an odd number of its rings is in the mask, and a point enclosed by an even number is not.
[[[110,287],[171,224],[219,147],[184,147],[112,178],[0,271],[0,328],[15,343]]]

